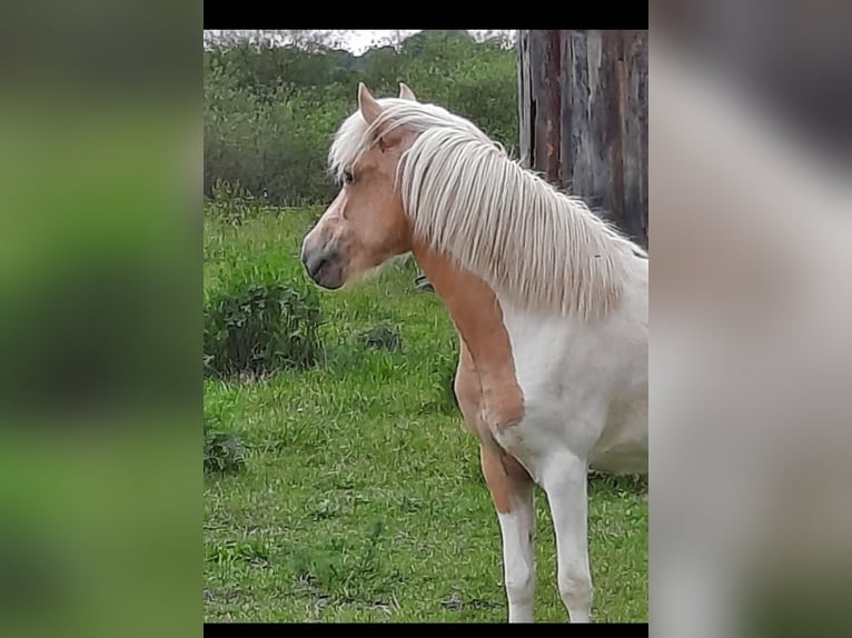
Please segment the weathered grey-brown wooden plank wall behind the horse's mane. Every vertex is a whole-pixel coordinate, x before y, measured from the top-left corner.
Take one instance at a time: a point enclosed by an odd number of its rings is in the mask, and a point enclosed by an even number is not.
[[[524,165],[647,247],[647,30],[522,30]]]

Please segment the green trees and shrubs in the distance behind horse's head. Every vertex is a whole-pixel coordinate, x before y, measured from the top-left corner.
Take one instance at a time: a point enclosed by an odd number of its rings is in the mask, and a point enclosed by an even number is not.
[[[514,152],[517,59],[505,39],[422,31],[363,56],[323,32],[290,39],[205,37],[205,193],[239,187],[280,206],[327,202],[331,136],[366,82],[377,97],[398,82],[476,122]],[[515,153],[516,154],[516,153]]]

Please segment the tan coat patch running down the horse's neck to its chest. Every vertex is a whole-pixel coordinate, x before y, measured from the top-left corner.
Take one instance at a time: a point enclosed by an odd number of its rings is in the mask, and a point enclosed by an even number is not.
[[[512,343],[494,290],[424,245],[415,246],[413,252],[470,353],[486,400],[503,401],[514,395],[517,380]]]

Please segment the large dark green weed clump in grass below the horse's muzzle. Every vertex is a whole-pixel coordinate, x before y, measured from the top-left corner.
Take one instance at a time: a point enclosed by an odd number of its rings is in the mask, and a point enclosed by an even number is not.
[[[304,370],[323,351],[315,291],[238,271],[205,307],[205,375],[261,377]]]

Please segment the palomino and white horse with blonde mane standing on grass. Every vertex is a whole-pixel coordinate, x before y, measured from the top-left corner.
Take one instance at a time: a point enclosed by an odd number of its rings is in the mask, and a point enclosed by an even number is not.
[[[337,289],[412,251],[460,340],[455,391],[497,509],[509,622],[533,620],[534,485],[558,585],[587,622],[587,471],[647,472],[646,252],[511,161],[468,120],[364,84],[329,163],[341,190],[305,237]]]

